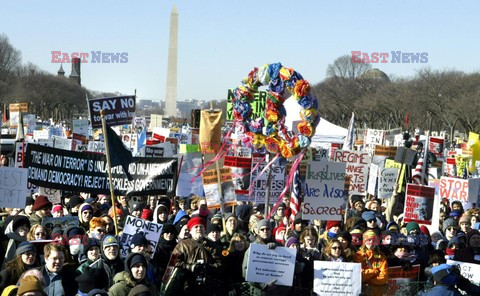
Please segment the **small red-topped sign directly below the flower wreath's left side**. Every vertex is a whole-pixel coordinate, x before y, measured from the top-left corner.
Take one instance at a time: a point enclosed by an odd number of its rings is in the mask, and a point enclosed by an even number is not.
[[[225,156],[225,167],[232,170],[233,185],[236,194],[248,194],[250,188],[250,171],[252,159],[246,157]]]

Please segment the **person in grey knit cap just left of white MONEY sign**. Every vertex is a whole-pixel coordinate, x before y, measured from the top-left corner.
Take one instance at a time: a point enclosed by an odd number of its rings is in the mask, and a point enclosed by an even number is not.
[[[113,285],[115,274],[124,270],[124,264],[120,258],[120,245],[113,235],[106,235],[102,240],[101,256],[95,266],[103,267],[107,271],[109,286]]]

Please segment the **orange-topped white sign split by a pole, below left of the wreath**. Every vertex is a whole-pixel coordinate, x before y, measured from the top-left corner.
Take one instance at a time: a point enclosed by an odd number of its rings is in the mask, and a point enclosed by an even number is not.
[[[220,168],[220,176],[222,182],[222,195],[224,205],[233,205],[236,201],[235,188],[233,186],[232,172],[230,168]],[[218,191],[218,175],[216,169],[206,170],[202,174],[203,189],[205,190],[205,198],[209,207],[217,207],[220,205],[220,192]]]

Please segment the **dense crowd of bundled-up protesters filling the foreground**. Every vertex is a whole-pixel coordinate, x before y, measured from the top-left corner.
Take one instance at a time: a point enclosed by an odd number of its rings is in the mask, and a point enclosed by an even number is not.
[[[59,204],[43,195],[27,197],[25,209],[2,211],[1,296],[310,295],[316,260],[361,263],[365,295],[388,293],[388,267],[416,264],[424,295],[480,295],[478,286],[446,264],[480,263],[478,208],[443,200],[439,231],[429,233],[404,223],[401,214],[388,221],[381,202],[367,199],[350,196],[343,223],[305,221],[301,214],[289,221],[288,198],[266,220],[263,204],[238,203],[222,215],[193,195],[173,202],[120,196],[115,211],[104,195],[68,193]],[[123,258],[120,238],[128,215],[163,228],[156,246],[142,232],[133,235]],[[78,216],[78,226],[42,223],[65,216]],[[297,249],[292,287],[245,281],[252,243]]]

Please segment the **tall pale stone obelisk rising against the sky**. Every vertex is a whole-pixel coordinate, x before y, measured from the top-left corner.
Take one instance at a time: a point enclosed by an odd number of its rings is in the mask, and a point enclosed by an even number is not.
[[[165,115],[177,115],[177,53],[178,53],[178,11],[173,6],[170,14],[170,39],[168,45],[167,94],[165,96]]]

